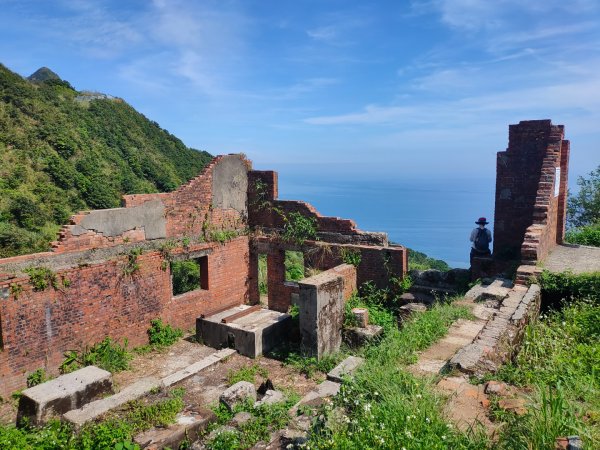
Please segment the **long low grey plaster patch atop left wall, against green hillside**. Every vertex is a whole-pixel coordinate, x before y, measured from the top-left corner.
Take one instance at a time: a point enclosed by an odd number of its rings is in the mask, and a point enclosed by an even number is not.
[[[90,211],[71,233],[73,236],[80,236],[88,231],[95,231],[113,237],[136,228],[144,230],[146,239],[167,237],[165,206],[161,200],[150,200],[133,208]]]

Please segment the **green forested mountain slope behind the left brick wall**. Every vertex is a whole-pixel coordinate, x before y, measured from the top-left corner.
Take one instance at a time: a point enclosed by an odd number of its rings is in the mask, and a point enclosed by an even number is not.
[[[0,257],[47,250],[73,213],[174,190],[211,159],[121,99],[80,94],[0,64]]]

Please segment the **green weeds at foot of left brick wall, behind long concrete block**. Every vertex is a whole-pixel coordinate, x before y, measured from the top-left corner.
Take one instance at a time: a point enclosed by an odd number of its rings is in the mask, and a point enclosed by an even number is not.
[[[65,353],[65,359],[59,370],[61,373],[70,373],[93,365],[109,372],[120,372],[129,368],[132,356],[127,350],[127,339],[123,341],[123,344],[119,344],[107,337],[91,347],[84,347],[80,352],[70,350]]]

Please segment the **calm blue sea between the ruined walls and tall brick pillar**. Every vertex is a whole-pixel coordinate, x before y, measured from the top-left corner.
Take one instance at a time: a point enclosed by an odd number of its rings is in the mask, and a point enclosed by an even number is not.
[[[284,176],[285,175],[285,176]],[[469,266],[469,234],[485,216],[492,226],[494,178],[335,180],[281,174],[279,198],[304,200],[328,216],[353,219],[360,229],[385,231],[390,240]]]

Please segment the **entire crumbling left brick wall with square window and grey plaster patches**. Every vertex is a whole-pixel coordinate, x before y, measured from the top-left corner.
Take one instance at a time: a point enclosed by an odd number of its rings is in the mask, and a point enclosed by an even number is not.
[[[247,302],[249,167],[239,155],[217,157],[175,192],[77,214],[51,252],[0,260],[0,395],[40,367],[56,374],[68,350],[107,336],[142,345],[152,319],[191,329],[201,314]],[[217,242],[224,230],[239,236]],[[133,265],[132,251],[141,253]],[[198,257],[208,289],[174,296],[169,260]],[[56,286],[35,290],[28,267],[50,269]]]

